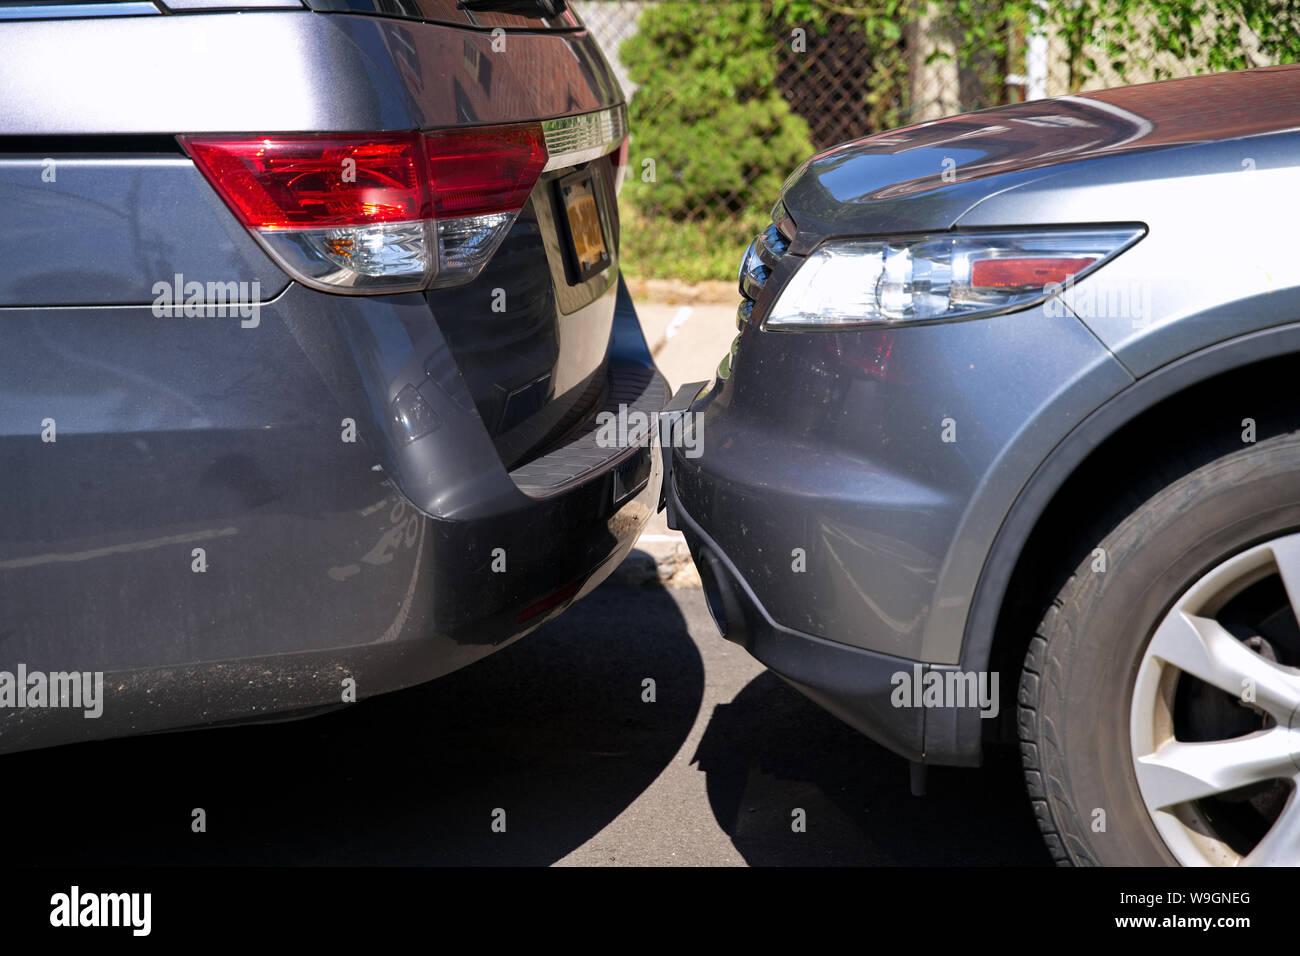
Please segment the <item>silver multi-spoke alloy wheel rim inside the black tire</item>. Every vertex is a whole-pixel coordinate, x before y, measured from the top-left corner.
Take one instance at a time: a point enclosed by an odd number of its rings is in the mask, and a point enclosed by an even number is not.
[[[1300,535],[1286,535],[1228,558],[1188,588],[1156,628],[1138,669],[1128,719],[1138,786],[1165,845],[1184,866],[1300,864],[1300,670],[1256,653],[1216,618],[1271,575],[1280,576],[1300,618]],[[1183,674],[1245,701],[1270,726],[1226,740],[1176,739],[1174,701]],[[1269,780],[1287,782],[1291,792],[1243,856],[1196,801]]]

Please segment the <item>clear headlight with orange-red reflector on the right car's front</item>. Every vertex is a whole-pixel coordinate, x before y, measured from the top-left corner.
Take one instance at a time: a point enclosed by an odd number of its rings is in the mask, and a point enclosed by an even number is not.
[[[781,289],[763,328],[872,328],[1015,312],[1060,294],[1145,232],[1069,226],[828,241]]]

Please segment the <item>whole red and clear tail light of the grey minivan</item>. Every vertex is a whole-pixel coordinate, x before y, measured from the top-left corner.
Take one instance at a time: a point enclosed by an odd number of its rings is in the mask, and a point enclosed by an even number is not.
[[[280,265],[352,294],[472,280],[547,163],[541,124],[179,140]]]

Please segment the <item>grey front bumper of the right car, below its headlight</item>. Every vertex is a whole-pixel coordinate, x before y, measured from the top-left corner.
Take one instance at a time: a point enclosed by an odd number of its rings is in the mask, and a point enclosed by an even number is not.
[[[728,636],[892,749],[975,763],[992,721],[896,709],[890,682],[987,670],[962,649],[1002,519],[1130,381],[1078,320],[1041,310],[803,334],[741,323],[690,407],[701,453],[673,450],[671,516],[732,592],[714,602]],[[996,676],[1009,714],[1014,675]]]

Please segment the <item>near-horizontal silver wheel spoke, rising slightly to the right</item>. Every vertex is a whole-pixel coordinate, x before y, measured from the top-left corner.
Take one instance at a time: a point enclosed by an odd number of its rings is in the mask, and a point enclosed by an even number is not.
[[[1249,783],[1290,778],[1294,735],[1273,727],[1231,740],[1166,740],[1136,761],[1138,783],[1152,810],[1223,793]]]

